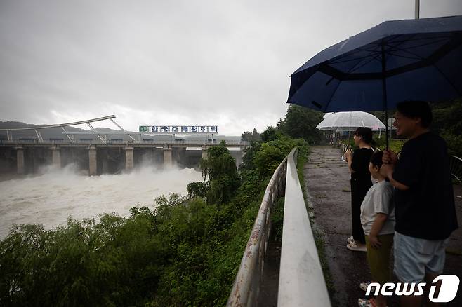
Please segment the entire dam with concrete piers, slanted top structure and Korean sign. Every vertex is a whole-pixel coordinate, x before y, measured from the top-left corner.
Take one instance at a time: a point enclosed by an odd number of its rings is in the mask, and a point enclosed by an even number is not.
[[[190,132],[204,135],[205,138],[200,140],[178,138],[176,135],[182,133],[178,128],[170,130],[171,126],[161,126],[156,132],[163,132],[162,129],[169,128],[169,134],[162,135],[164,139],[156,139],[152,134],[144,133],[145,130],[126,131],[113,118],[115,116],[111,115],[58,125],[0,129],[0,133],[6,132],[6,139],[0,139],[0,174],[34,174],[44,165],[62,168],[70,164],[77,165],[79,170],[85,170],[91,176],[130,171],[143,163],[159,165],[161,168],[176,166],[197,169],[201,159],[207,157],[207,150],[218,145],[213,137],[213,133],[216,135],[218,132],[216,126],[181,126],[182,130],[190,128],[185,130],[185,134]],[[91,125],[93,122],[105,120],[112,121],[119,130],[101,132]],[[81,124],[88,125],[91,130],[77,131],[72,127]],[[60,129],[62,137],[47,139],[42,136],[42,132],[46,130]],[[33,132],[37,137],[31,137]],[[208,137],[209,134],[211,139]],[[244,149],[249,144],[227,142],[226,146],[239,166],[242,163]]]

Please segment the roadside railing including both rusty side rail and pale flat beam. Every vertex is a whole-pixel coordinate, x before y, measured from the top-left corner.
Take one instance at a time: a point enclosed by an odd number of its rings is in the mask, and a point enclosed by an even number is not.
[[[284,190],[278,306],[331,306],[296,163],[297,150],[293,149],[279,164],[266,187],[227,306],[258,306],[272,207]]]

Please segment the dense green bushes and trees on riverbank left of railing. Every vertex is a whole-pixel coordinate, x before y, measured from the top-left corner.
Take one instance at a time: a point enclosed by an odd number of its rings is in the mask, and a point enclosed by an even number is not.
[[[281,132],[253,142],[239,171],[225,144],[203,161],[202,193],[130,217],[14,226],[0,241],[1,306],[223,306],[272,172],[307,142]],[[176,196],[172,196],[176,198]]]

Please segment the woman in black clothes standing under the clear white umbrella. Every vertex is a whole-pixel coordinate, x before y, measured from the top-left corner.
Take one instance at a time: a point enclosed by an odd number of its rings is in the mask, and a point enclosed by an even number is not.
[[[356,149],[354,154],[350,150],[345,152],[345,159],[351,172],[352,236],[347,239],[347,248],[357,252],[366,252],[366,239],[361,224],[361,203],[372,186],[369,172],[369,161],[373,153],[371,128],[357,128],[353,139],[359,149]]]

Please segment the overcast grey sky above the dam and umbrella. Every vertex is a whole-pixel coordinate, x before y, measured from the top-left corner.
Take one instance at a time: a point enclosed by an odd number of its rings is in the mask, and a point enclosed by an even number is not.
[[[462,0],[421,0],[421,18],[448,15]],[[0,0],[0,121],[261,132],[310,57],[411,18],[414,0]]]

